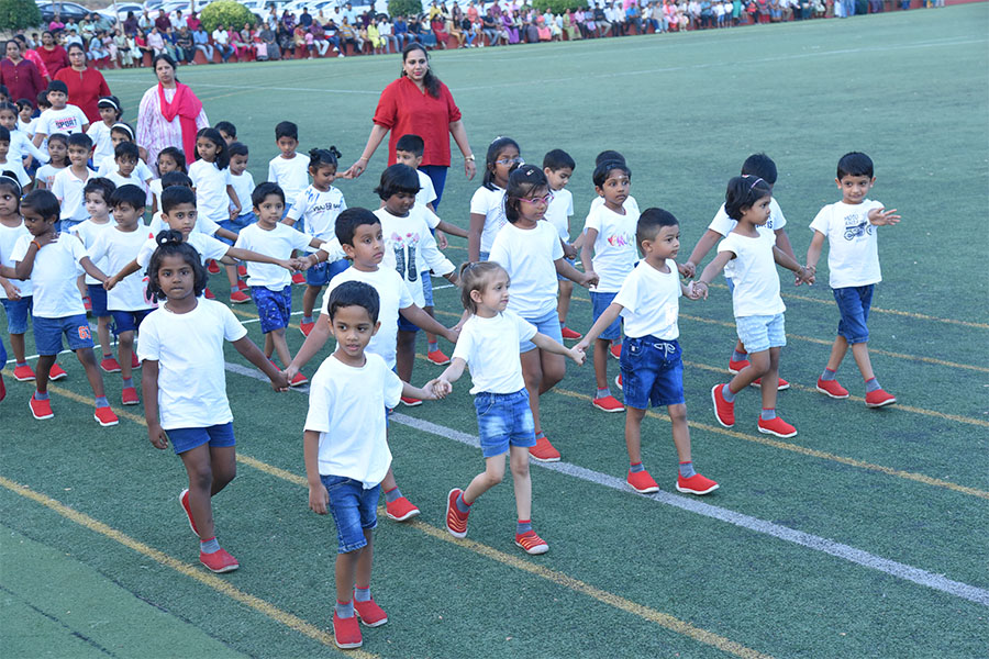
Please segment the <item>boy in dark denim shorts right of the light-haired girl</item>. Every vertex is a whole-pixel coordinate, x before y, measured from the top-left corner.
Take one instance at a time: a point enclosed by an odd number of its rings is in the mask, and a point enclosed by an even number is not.
[[[625,399],[625,447],[629,450],[629,487],[649,494],[659,485],[642,466],[642,420],[652,406],[666,405],[673,424],[679,471],[677,490],[708,494],[718,483],[697,473],[690,456],[690,428],[684,399],[684,362],[677,338],[680,295],[699,295],[680,283],[676,257],[680,248],[680,224],[662,209],[647,209],[638,217],[635,242],[643,258],[625,278],[611,304],[577,344],[586,349],[621,315],[622,390]]]

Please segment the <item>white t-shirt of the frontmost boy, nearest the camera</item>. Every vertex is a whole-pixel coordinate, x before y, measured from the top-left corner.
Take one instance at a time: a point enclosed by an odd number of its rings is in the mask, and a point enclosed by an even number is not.
[[[320,474],[352,478],[370,490],[388,473],[385,410],[402,395],[402,381],[374,353],[360,368],[333,355],[309,383],[305,429],[320,434]]]

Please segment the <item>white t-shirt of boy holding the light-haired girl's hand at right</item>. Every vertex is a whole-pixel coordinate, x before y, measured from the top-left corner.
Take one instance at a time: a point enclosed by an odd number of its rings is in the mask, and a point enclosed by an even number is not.
[[[614,303],[623,306],[625,336],[655,336],[663,340],[680,336],[680,276],[675,260],[666,259],[666,266],[669,272],[660,272],[642,259],[614,297]]]

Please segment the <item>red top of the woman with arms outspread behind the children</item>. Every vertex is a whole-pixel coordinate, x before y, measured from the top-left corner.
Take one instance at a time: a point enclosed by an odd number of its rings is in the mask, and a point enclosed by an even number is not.
[[[413,133],[425,142],[423,165],[449,167],[449,124],[459,120],[460,109],[446,85],[440,83],[440,98],[434,99],[402,76],[381,92],[373,121],[391,131],[388,165],[395,165],[395,145],[399,138]]]

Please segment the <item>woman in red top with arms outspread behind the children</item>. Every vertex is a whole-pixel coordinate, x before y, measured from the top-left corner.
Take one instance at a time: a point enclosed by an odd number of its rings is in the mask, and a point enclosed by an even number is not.
[[[375,125],[367,146],[357,161],[344,172],[345,178],[357,178],[367,168],[375,149],[391,131],[388,141],[388,164],[395,164],[395,144],[399,137],[413,133],[425,142],[420,169],[433,181],[440,205],[446,171],[449,169],[449,137],[453,135],[460,153],[464,154],[464,172],[473,179],[477,172],[467,130],[460,120],[460,109],[453,100],[449,89],[430,70],[430,58],[422,44],[411,43],[402,49],[402,75],[385,88],[378,99],[378,108],[371,120]]]

